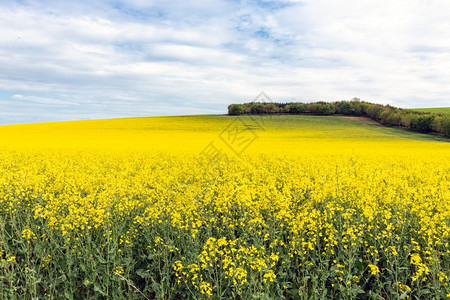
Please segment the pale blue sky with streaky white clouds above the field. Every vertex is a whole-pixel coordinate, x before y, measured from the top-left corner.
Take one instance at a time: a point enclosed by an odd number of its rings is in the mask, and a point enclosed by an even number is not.
[[[450,106],[447,0],[0,0],[0,124]]]

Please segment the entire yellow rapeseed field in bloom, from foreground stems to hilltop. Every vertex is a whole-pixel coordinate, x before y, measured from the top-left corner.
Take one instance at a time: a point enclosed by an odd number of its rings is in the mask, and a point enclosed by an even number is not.
[[[2,298],[449,297],[446,140],[337,116],[0,138]]]

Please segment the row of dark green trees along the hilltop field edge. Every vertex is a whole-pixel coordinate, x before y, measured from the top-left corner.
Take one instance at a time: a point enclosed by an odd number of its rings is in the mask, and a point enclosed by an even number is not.
[[[347,115],[363,116],[389,126],[399,126],[414,131],[435,132],[450,137],[450,115],[425,113],[360,101],[313,102],[313,103],[276,103],[250,102],[231,104],[228,114],[313,114],[313,115]]]

